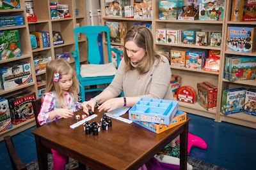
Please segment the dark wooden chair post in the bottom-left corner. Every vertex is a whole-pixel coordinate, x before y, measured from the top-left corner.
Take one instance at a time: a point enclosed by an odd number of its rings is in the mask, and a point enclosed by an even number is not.
[[[26,164],[20,160],[20,157],[14,148],[11,136],[4,136],[4,142],[12,162],[12,168],[17,170],[26,170]]]

